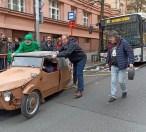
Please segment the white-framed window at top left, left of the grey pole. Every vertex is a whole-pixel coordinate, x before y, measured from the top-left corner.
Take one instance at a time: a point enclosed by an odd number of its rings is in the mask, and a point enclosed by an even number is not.
[[[11,10],[24,12],[25,0],[8,0],[8,8]]]

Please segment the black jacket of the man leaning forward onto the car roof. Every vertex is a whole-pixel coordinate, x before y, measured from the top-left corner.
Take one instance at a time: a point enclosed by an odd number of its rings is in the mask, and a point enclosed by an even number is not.
[[[74,37],[69,38],[68,44],[61,46],[57,57],[69,58],[72,63],[78,63],[82,60],[87,60],[86,53],[76,42]]]

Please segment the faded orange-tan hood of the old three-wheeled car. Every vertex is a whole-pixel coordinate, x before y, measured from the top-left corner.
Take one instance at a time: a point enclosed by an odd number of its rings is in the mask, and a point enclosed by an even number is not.
[[[30,67],[12,67],[7,71],[0,73],[0,91],[7,91],[18,88],[33,78],[31,73],[40,73],[39,68]]]

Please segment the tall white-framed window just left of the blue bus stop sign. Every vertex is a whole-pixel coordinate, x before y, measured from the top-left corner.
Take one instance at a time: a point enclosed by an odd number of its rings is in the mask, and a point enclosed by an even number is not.
[[[50,0],[50,18],[59,20],[59,3]]]

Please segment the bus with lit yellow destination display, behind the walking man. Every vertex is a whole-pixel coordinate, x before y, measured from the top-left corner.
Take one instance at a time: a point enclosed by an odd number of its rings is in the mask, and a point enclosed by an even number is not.
[[[116,30],[126,39],[134,52],[135,62],[146,61],[146,13],[122,15],[103,19],[101,21],[103,39],[101,45],[101,61],[107,57],[108,36],[111,30]]]

